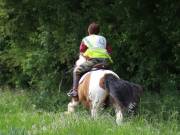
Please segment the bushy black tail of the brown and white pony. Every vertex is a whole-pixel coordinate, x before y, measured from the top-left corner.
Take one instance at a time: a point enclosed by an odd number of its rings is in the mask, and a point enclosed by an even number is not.
[[[128,111],[134,111],[140,101],[142,87],[122,79],[113,74],[105,75],[105,89],[110,97],[119,105],[123,105]]]

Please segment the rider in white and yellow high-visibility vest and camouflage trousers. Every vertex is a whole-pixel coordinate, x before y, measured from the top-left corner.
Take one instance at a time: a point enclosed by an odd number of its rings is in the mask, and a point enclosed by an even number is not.
[[[78,96],[77,88],[82,74],[90,71],[94,65],[100,63],[108,65],[112,63],[109,55],[112,52],[112,48],[107,44],[105,37],[98,35],[99,31],[99,24],[93,22],[88,27],[89,35],[82,39],[80,53],[86,58],[86,62],[75,67],[73,71],[73,88],[67,93],[68,96]]]

